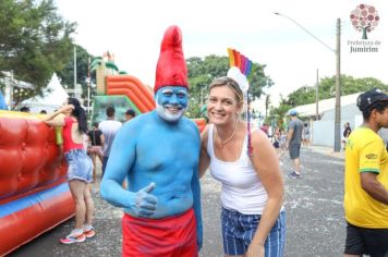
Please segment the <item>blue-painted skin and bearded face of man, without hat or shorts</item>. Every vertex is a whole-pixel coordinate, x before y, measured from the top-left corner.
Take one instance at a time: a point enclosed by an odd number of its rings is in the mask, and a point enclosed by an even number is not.
[[[201,138],[194,122],[182,117],[185,87],[161,87],[157,110],[126,122],[116,135],[100,193],[133,217],[159,219],[194,208],[202,246],[198,158]],[[128,189],[122,182],[128,179]]]

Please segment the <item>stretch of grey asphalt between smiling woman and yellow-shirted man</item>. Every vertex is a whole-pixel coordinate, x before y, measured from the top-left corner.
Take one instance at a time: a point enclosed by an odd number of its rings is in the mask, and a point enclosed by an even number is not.
[[[284,176],[286,257],[343,255],[343,154],[324,146],[302,147],[302,178]],[[286,175],[292,167],[288,154],[282,161]]]

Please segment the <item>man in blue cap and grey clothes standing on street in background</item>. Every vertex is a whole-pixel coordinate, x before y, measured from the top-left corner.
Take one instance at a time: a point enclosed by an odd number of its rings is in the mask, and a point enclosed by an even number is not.
[[[293,171],[289,174],[291,179],[301,178],[301,143],[303,122],[298,119],[298,112],[295,110],[290,111],[291,121],[288,127],[288,134],[286,139],[286,148],[290,152],[290,159],[292,160]]]

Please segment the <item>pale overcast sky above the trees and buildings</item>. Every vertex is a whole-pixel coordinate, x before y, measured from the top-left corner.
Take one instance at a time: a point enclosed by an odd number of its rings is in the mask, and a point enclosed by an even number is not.
[[[388,1],[384,0],[54,2],[60,15],[77,23],[74,35],[77,45],[94,56],[109,50],[121,71],[150,86],[155,82],[162,35],[168,26],[178,25],[183,34],[185,59],[228,56],[227,48],[233,48],[253,62],[265,64],[265,74],[275,83],[265,93],[278,106],[280,96],[316,85],[317,70],[319,78],[336,74],[337,19],[341,19],[341,74],[375,77],[388,84],[385,65],[388,33],[384,34],[388,32]],[[367,40],[361,40],[362,34],[350,20],[351,12],[361,3],[375,7],[380,17]],[[373,44],[377,52],[350,52],[350,45],[360,41]],[[264,110],[263,100],[256,109]]]

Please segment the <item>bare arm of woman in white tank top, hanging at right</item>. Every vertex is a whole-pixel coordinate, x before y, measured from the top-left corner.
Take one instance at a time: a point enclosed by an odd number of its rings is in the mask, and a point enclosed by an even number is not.
[[[247,256],[256,256],[257,249],[264,246],[264,243],[270,232],[274,223],[279,217],[283,204],[284,183],[279,168],[279,159],[275,148],[271,146],[267,136],[256,131],[252,134],[253,157],[251,158],[254,169],[267,192],[267,204],[262,213],[262,219],[256,233],[248,247]]]

